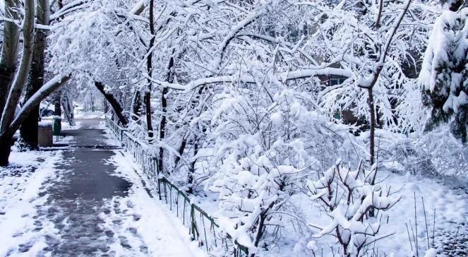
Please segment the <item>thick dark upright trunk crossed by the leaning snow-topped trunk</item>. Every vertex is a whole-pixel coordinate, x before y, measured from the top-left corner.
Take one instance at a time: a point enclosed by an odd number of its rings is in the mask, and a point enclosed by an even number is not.
[[[37,0],[37,23],[49,25],[49,0]],[[25,88],[25,100],[28,101],[32,95],[42,87],[44,83],[44,60],[47,48],[47,30],[37,30],[34,38],[34,50],[32,64],[29,72],[29,80]],[[24,103],[23,102],[23,103]],[[20,147],[23,150],[37,150],[37,129],[39,121],[39,106],[32,112],[20,126]]]

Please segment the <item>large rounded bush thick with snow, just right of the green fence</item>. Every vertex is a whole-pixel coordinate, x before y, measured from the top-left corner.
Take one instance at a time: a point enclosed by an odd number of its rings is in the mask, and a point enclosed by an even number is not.
[[[215,217],[255,253],[268,249],[294,217],[290,198],[304,177],[331,165],[332,156],[346,157],[356,142],[349,126],[320,114],[309,92],[284,87],[268,71],[252,73],[266,78],[224,85],[203,115],[214,142],[208,188],[219,193]]]

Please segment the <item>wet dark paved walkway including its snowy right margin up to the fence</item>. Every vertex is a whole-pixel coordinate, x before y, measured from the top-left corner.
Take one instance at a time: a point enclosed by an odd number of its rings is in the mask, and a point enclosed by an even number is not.
[[[80,121],[80,129],[64,131],[74,137],[72,148],[64,151],[60,171],[49,181],[47,204],[37,213],[38,220],[46,217],[58,229],[58,237],[47,237],[44,251],[52,256],[192,256],[183,228],[148,195],[129,162],[116,166],[114,158],[126,159],[119,147],[105,143],[104,131],[96,128],[102,119]],[[133,179],[116,176],[122,169]],[[158,245],[167,246],[157,251]]]

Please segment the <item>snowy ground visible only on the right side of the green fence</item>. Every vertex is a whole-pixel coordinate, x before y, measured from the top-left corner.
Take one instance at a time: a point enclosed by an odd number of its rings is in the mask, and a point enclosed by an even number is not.
[[[112,142],[112,139],[109,141]],[[114,140],[114,143],[119,142]],[[130,154],[125,155],[128,160],[133,159]],[[369,254],[416,256],[414,235],[418,243],[418,256],[424,256],[432,247],[440,253],[438,256],[467,254],[468,249],[464,245],[468,239],[466,181],[415,176],[396,167],[380,170],[376,181],[391,185],[391,191],[400,195],[401,199],[383,215],[378,235],[381,239],[372,244]],[[198,192],[198,196],[191,196],[191,199],[210,215],[215,215],[218,210],[216,193]],[[309,225],[329,224],[330,217],[321,212],[305,193],[296,194],[291,202],[296,217],[303,221],[296,220],[292,222],[295,224],[284,225],[278,244],[270,245],[268,251],[261,251],[257,256],[308,256],[310,252],[306,250],[306,245],[311,240],[316,241],[319,256],[334,256],[333,251],[336,252],[339,247],[335,237],[314,239],[313,234],[318,230]]]

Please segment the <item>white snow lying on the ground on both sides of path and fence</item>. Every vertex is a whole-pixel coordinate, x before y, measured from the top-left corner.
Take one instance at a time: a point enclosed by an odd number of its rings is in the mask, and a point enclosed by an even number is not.
[[[89,128],[103,129],[104,122]],[[109,131],[98,140],[104,145],[120,145]],[[131,186],[125,195],[102,199],[103,205],[96,209],[95,215],[101,222],[98,227],[110,239],[104,240],[108,242],[107,250],[95,254],[207,256],[196,241],[191,241],[188,229],[169,207],[157,199],[151,183],[131,161],[133,157],[123,150],[110,153],[113,154],[104,162],[115,167],[112,176],[125,179]],[[72,158],[67,163],[73,165],[76,160]],[[50,213],[48,190],[54,190],[54,183],[65,178],[61,175],[65,172],[63,167],[57,168],[61,164],[64,164],[64,152],[61,150],[13,152],[11,165],[0,169],[0,229],[3,239],[0,256],[49,255],[52,253],[51,241],[61,244],[67,240],[61,237],[61,225],[50,220],[50,215],[42,215]],[[414,176],[397,172],[397,169],[380,170],[377,181],[391,185],[392,191],[401,199],[383,215],[379,234],[382,239],[375,241],[369,254],[413,256],[417,241],[418,256],[424,256],[431,247],[437,249],[438,256],[467,255],[466,181]],[[217,210],[215,193],[206,191],[204,196],[194,196],[193,202],[199,203],[210,214]],[[330,217],[320,212],[304,193],[294,195],[291,203],[296,217],[303,221],[296,220],[294,225],[284,226],[278,243],[271,244],[268,250],[263,249],[258,256],[308,256],[306,248],[311,240],[316,241],[320,256],[333,256],[338,247],[336,239],[331,236],[313,239],[312,235],[318,230],[309,226],[328,224]],[[78,198],[76,204],[80,205]],[[68,226],[66,213],[61,215],[64,215],[63,225]]]

